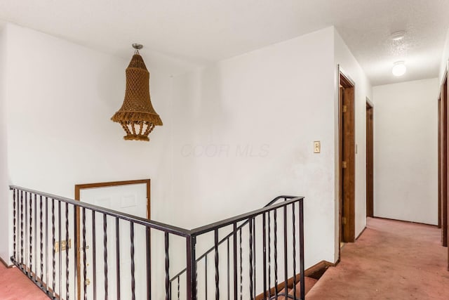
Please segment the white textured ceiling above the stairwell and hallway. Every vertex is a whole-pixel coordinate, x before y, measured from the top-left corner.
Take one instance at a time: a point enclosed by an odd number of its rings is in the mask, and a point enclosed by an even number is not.
[[[173,72],[335,25],[373,85],[437,77],[448,16],[448,0],[0,0],[0,20],[126,59],[140,42]]]

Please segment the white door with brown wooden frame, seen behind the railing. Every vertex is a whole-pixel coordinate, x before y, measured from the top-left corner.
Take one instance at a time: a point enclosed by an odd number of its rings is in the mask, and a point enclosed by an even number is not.
[[[89,183],[75,186],[76,200],[93,204],[99,207],[105,207],[125,214],[139,216],[150,219],[149,207],[149,180],[140,181],[118,181],[111,183]],[[78,214],[82,216],[82,214]],[[81,277],[86,272],[86,296],[87,299],[105,299],[105,275],[104,270],[108,270],[110,282],[112,278],[120,278],[120,289],[117,285],[107,285],[107,292],[110,299],[130,299],[131,279],[130,279],[130,227],[129,223],[119,221],[119,250],[116,249],[116,224],[115,219],[107,217],[107,226],[101,214],[95,214],[95,224],[93,223],[92,213],[86,210],[86,249],[80,250],[79,259],[82,254],[86,254],[86,270],[78,261],[78,299],[85,294],[81,285]],[[81,233],[81,224],[79,223],[78,233]],[[95,227],[93,227],[95,225]],[[95,232],[93,231],[95,228]],[[107,266],[104,263],[104,230],[107,233]],[[147,297],[147,245],[146,230],[142,226],[135,226],[135,294],[137,299],[146,299]],[[83,244],[81,236],[77,237],[78,244]],[[96,240],[95,244],[93,244]],[[115,251],[112,251],[114,249]],[[119,257],[117,257],[119,253]],[[116,262],[120,262],[119,268]],[[95,270],[93,269],[95,266]],[[119,270],[119,272],[117,272]],[[120,290],[120,295],[118,294]]]

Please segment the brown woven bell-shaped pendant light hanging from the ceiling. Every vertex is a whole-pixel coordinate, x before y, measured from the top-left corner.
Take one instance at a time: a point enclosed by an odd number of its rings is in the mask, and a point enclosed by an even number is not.
[[[149,141],[149,133],[154,126],[162,126],[162,120],[149,97],[149,72],[139,54],[142,45],[133,44],[133,48],[134,56],[126,68],[125,100],[111,119],[126,131],[125,140]]]

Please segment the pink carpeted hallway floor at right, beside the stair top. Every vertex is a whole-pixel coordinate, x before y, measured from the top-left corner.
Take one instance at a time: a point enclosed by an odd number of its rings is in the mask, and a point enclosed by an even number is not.
[[[449,299],[448,249],[440,240],[434,226],[368,219],[306,299]]]

